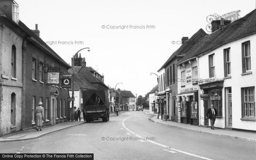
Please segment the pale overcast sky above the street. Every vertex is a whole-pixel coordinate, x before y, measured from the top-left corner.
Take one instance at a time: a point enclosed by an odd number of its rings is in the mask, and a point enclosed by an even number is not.
[[[206,17],[255,9],[255,0],[15,0],[19,19],[71,64],[81,48],[87,66],[98,69],[105,84],[145,95],[158,69],[180,47],[177,41],[202,28]],[[135,26],[135,27],[134,27]],[[122,29],[123,28],[123,29]],[[175,44],[172,42],[175,41]]]

